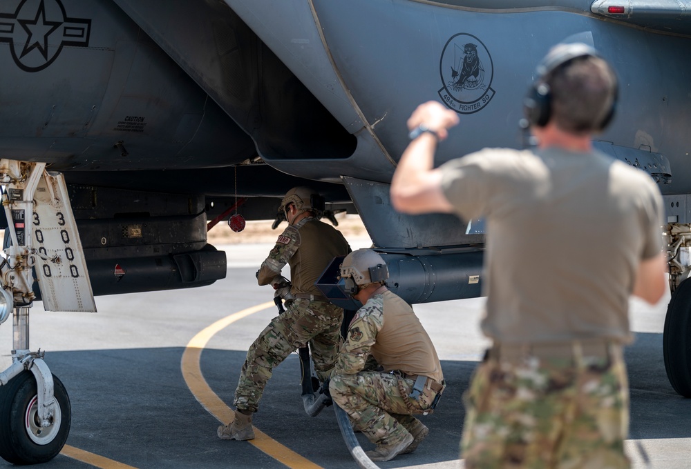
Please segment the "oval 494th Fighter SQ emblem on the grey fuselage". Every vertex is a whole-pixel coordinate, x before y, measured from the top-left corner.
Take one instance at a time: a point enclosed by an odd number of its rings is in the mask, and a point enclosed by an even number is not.
[[[494,96],[492,57],[480,39],[460,32],[448,41],[439,60],[442,102],[460,114],[473,114]]]

